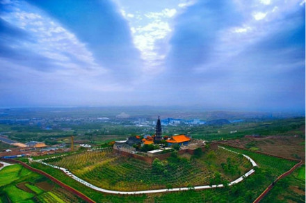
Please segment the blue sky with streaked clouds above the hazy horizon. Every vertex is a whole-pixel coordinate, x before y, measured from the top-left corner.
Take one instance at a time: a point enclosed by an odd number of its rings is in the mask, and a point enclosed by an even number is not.
[[[305,111],[305,1],[0,0],[0,107]]]

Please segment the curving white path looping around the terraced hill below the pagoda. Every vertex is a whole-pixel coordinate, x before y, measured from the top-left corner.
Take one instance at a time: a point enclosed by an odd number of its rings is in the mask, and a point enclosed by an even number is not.
[[[220,146],[218,146],[220,147]],[[230,149],[226,149],[225,147],[220,147],[222,149],[225,149],[229,152],[233,152],[235,154],[239,154],[238,152],[234,152]],[[255,163],[254,160],[252,160],[249,156],[246,156],[245,154],[243,154],[243,156],[248,159],[251,163],[252,163],[252,166],[255,167],[257,166],[257,164]],[[85,185],[85,186],[88,186],[89,188],[92,188],[94,190],[97,190],[97,191],[100,191],[100,192],[103,192],[103,193],[111,193],[111,194],[119,194],[119,195],[139,195],[139,194],[147,194],[147,193],[167,193],[167,192],[173,192],[173,191],[182,191],[182,190],[190,190],[191,188],[187,188],[187,187],[184,187],[184,188],[172,188],[172,189],[159,189],[159,190],[140,190],[140,191],[115,191],[115,190],[106,190],[106,189],[103,189],[103,188],[99,188],[97,186],[94,186],[90,183],[88,183],[87,181],[84,181],[83,179],[80,179],[79,177],[75,176],[74,174],[72,174],[69,170],[67,170],[66,168],[61,168],[61,167],[58,167],[56,165],[51,165],[49,163],[45,163],[41,160],[37,160],[36,162],[38,163],[42,163],[44,165],[49,165],[50,167],[52,168],[56,168],[56,169],[59,169],[59,170],[63,170],[63,172],[65,172],[65,174],[69,175],[70,177],[72,177],[72,179],[80,182],[81,184]],[[230,182],[229,186],[232,186],[234,184],[238,184],[239,182],[243,181],[243,179],[245,177],[248,177],[250,174],[252,174],[253,172],[255,172],[254,169],[251,169],[250,171],[246,172],[245,174],[243,174],[243,176],[239,177],[238,179]],[[208,188],[222,188],[224,187],[223,184],[218,184],[218,185],[212,185],[212,186],[194,186],[193,189],[195,190],[201,190],[201,189],[208,189]]]

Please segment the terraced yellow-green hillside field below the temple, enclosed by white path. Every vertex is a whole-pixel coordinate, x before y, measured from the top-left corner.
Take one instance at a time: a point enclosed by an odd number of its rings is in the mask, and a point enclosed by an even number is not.
[[[153,165],[111,152],[83,152],[47,162],[67,168],[77,177],[110,190],[220,184],[213,181],[232,181],[251,168],[243,156],[225,149],[209,151],[199,159],[190,160],[172,154],[166,161],[156,161]]]

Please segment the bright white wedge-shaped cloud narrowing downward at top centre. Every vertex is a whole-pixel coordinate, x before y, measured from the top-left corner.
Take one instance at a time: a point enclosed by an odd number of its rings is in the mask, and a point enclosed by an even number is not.
[[[144,72],[156,71],[156,67],[159,66],[159,70],[162,70],[161,63],[165,58],[165,53],[159,53],[156,51],[157,40],[163,40],[163,46],[168,47],[167,37],[171,33],[170,19],[177,14],[175,8],[164,8],[160,12],[140,13],[131,10],[120,10],[122,15],[129,21],[131,35],[135,47],[140,51],[140,57],[143,59]]]

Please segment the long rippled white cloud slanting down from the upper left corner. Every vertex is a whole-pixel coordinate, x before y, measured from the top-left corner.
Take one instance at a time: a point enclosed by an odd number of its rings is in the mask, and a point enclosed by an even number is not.
[[[55,62],[56,60],[66,63],[81,62],[91,68],[98,66],[86,45],[61,24],[45,15],[45,13],[27,3],[20,5],[13,3],[12,8],[12,12],[3,13],[1,19],[13,24],[13,26],[24,29],[34,39],[31,42],[15,45],[17,49],[35,50],[36,53]],[[73,62],[74,59],[79,61]],[[67,65],[63,67],[69,68]],[[76,65],[76,67],[83,68],[82,65]]]

